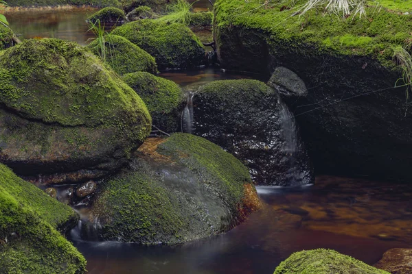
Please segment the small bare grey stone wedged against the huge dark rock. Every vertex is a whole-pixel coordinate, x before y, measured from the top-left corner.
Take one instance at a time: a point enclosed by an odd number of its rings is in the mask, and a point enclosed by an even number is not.
[[[297,99],[308,95],[305,83],[296,73],[279,66],[273,71],[268,86],[277,88],[283,97]]]

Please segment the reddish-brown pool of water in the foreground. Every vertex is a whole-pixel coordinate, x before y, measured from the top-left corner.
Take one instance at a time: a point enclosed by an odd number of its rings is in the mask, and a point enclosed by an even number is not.
[[[74,245],[89,273],[273,273],[295,251],[330,248],[374,264],[412,245],[412,187],[319,176],[313,186],[258,186],[264,210],[230,232],[178,247]]]

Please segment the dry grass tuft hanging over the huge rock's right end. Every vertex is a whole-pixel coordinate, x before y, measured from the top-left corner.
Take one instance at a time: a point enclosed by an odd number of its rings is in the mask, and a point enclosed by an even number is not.
[[[398,63],[398,67],[402,70],[402,77],[396,81],[395,86],[398,86],[398,82],[404,82],[401,86],[406,86],[407,89],[405,90],[406,100],[407,100],[407,108],[405,110],[405,116],[407,115],[408,105],[409,105],[409,92],[412,89],[412,56],[407,49],[404,47],[398,46],[393,49],[393,58]]]

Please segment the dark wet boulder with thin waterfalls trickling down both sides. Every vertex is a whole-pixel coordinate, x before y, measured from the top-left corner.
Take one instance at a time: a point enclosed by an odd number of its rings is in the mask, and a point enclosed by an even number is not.
[[[295,120],[273,88],[255,80],[215,81],[193,95],[196,135],[242,160],[258,184],[312,182]]]

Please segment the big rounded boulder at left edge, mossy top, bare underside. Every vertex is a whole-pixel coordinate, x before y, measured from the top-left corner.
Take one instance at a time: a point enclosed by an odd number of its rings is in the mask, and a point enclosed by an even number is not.
[[[0,83],[0,159],[19,175],[107,173],[150,133],[136,92],[73,42],[25,40],[3,51]]]

